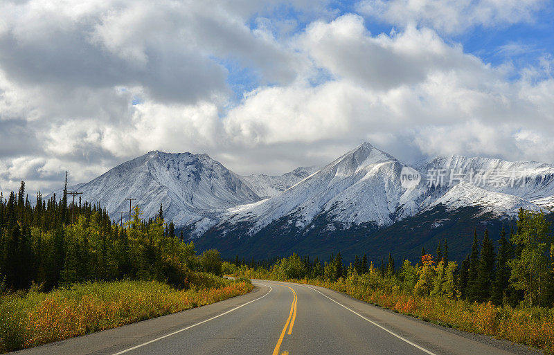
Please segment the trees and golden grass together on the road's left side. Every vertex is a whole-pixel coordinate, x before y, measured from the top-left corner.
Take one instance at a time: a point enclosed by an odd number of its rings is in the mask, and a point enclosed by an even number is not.
[[[0,194],[0,352],[119,327],[253,289],[226,280],[216,250],[134,208],[118,225],[105,208],[67,199],[31,203],[25,183]]]

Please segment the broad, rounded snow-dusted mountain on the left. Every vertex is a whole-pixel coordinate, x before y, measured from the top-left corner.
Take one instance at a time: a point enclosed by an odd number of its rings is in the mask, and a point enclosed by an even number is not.
[[[218,210],[259,201],[242,181],[206,154],[149,152],[127,161],[88,183],[69,190],[82,191],[82,200],[106,206],[118,220],[129,210],[129,201],[139,206],[143,217],[152,217],[160,203],[166,219],[184,226],[215,215]],[[60,196],[61,191],[57,191]],[[128,217],[125,215],[124,220]]]

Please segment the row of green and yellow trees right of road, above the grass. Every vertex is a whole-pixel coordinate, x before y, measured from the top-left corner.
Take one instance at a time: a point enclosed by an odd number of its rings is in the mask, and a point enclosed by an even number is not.
[[[389,253],[378,267],[368,264],[366,255],[356,256],[345,267],[341,253],[329,260],[310,262],[310,258],[293,254],[277,260],[269,267],[248,266],[235,260],[237,273],[253,273],[277,280],[319,279],[337,281],[346,277],[364,276],[385,291],[402,291],[415,295],[437,295],[461,298],[470,302],[492,302],[512,307],[554,305],[554,237],[542,212],[519,210],[517,226],[509,235],[502,226],[498,248],[485,230],[482,237],[474,231],[473,244],[460,265],[449,260],[447,241],[439,243],[436,252],[422,248],[421,260],[412,264],[402,260],[400,267]],[[253,264],[253,263],[252,263]]]

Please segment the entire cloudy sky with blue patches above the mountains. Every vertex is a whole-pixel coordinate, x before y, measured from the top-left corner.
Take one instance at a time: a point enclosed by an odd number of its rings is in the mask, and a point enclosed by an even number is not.
[[[554,163],[553,75],[554,0],[0,0],[0,191],[151,150]]]

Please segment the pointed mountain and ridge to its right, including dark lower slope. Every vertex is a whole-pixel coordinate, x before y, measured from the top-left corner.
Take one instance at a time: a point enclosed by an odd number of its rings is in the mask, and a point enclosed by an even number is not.
[[[462,253],[467,230],[477,224],[499,228],[503,220],[512,223],[519,208],[549,212],[554,201],[554,167],[548,164],[438,157],[417,165],[423,179],[410,188],[401,184],[404,166],[364,143],[271,199],[229,208],[197,246],[260,259],[338,250],[348,256],[355,246],[375,247],[370,255],[387,248],[417,257],[422,245],[440,236]],[[445,179],[430,183],[437,170],[445,170]],[[452,172],[465,174],[450,181]]]

